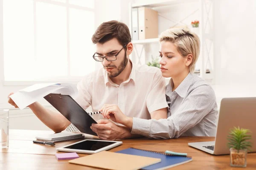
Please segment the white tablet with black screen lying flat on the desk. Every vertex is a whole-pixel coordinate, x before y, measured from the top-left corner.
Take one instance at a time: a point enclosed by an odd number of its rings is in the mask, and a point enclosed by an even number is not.
[[[113,147],[122,144],[121,141],[103,141],[103,140],[93,140],[85,139],[73,144],[68,144],[63,147],[58,147],[58,151],[63,152],[76,152],[76,153],[97,153],[102,150],[109,150]]]

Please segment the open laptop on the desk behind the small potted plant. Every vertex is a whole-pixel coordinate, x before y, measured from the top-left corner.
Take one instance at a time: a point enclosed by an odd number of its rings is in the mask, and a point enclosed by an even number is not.
[[[189,146],[203,150],[213,155],[230,154],[227,147],[227,136],[230,129],[240,127],[250,129],[252,133],[252,151],[256,152],[256,97],[248,98],[224,98],[218,117],[218,125],[215,141],[192,142]],[[248,151],[249,152],[249,151]]]

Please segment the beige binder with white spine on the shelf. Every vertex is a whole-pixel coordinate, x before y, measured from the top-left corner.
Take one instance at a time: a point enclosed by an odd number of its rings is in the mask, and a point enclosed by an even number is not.
[[[158,37],[158,15],[151,8],[138,8],[139,40]]]

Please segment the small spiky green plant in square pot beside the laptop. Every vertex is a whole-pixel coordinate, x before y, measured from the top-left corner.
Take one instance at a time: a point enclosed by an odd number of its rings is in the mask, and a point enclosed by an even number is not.
[[[232,167],[246,167],[247,150],[252,147],[252,143],[248,141],[251,139],[248,132],[250,132],[249,129],[240,127],[230,130],[227,146],[230,148],[230,166]]]

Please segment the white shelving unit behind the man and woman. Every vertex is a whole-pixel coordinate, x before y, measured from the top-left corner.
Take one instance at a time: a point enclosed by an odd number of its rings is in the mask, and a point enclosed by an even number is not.
[[[189,5],[196,6],[196,8],[191,8],[191,13],[184,14],[182,19],[176,19],[173,16],[164,16],[165,12],[168,13],[175,9],[175,7]],[[189,5],[190,6],[190,5]],[[132,8],[139,8],[139,7],[148,7],[158,11],[158,26],[159,28],[164,28],[165,25],[168,25],[168,20],[173,23],[173,25],[169,25],[169,28],[172,26],[177,25],[187,25],[190,26],[191,20],[193,15],[197,15],[199,17],[195,18],[194,20],[200,21],[200,33],[199,37],[201,40],[201,52],[200,57],[198,59],[197,68],[200,69],[200,77],[206,79],[210,83],[214,83],[214,15],[213,15],[213,8],[214,8],[214,0],[145,0],[139,3],[131,3],[129,6],[130,11],[130,31],[132,31],[132,17],[131,17],[131,10]],[[185,12],[184,12],[185,13]],[[160,18],[164,18],[166,22],[160,22]],[[159,29],[159,33],[164,30]],[[132,35],[132,34],[131,34]],[[131,55],[131,59],[133,62],[142,65],[145,64],[151,59],[151,54],[148,51],[151,50],[152,45],[158,44],[158,38],[153,39],[146,39],[146,40],[134,40],[132,41],[134,44],[134,53]],[[158,51],[154,49],[154,51]],[[206,73],[209,70],[210,73]]]

